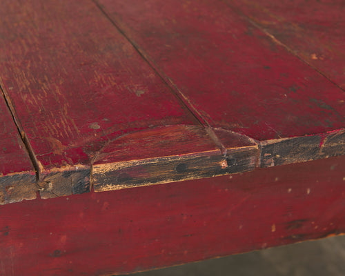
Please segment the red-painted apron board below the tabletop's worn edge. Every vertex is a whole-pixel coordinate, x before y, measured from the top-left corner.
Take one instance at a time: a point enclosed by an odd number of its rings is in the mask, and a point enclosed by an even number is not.
[[[8,204],[0,274],[116,275],[344,233],[344,166],[334,157]]]

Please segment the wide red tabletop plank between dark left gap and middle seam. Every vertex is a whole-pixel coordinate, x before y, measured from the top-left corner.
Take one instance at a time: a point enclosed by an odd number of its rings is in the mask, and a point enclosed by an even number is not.
[[[194,135],[195,143],[181,139],[185,144],[179,146],[175,135],[169,146],[183,150],[174,154],[213,152],[217,161],[226,159],[184,103],[91,1],[1,1],[0,17],[3,90],[37,158],[41,197],[88,192],[90,166],[99,151],[139,130],[150,136],[157,127],[181,126],[179,135]],[[166,153],[162,147],[148,152],[137,146],[127,161],[139,156],[166,158]]]

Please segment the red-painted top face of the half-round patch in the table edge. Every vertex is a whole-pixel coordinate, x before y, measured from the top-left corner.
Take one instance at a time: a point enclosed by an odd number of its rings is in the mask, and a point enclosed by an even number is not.
[[[218,146],[208,138],[206,130],[199,126],[163,126],[139,130],[113,139],[95,156],[94,164],[155,158],[161,156],[188,155],[195,152],[219,151]],[[235,146],[253,144],[237,141]],[[116,152],[116,155],[114,154]],[[220,152],[219,152],[220,154]]]

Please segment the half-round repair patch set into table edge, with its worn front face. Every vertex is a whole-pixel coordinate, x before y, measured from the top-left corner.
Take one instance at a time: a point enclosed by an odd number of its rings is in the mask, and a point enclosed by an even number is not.
[[[93,162],[95,191],[146,186],[253,170],[257,144],[227,135],[221,152],[205,129],[170,126],[141,130],[111,141]]]

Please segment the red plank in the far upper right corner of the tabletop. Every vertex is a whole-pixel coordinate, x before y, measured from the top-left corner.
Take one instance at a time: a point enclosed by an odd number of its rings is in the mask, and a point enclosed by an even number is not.
[[[344,1],[225,1],[345,89]]]

